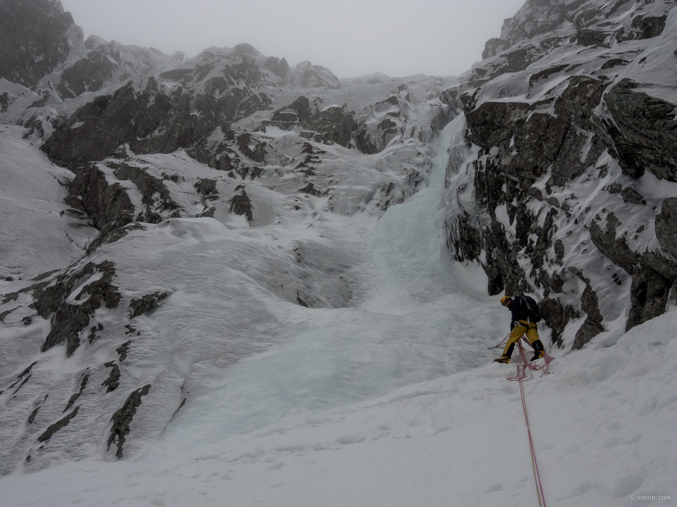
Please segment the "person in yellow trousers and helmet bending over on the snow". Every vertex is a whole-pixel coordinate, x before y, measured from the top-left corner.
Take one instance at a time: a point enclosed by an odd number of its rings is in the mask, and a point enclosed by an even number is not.
[[[524,334],[527,335],[529,343],[534,348],[534,356],[531,358],[531,361],[542,358],[545,349],[538,337],[537,323],[541,320],[541,315],[538,311],[536,301],[525,295],[517,296],[515,298],[503,296],[501,298],[501,305],[508,308],[512,313],[512,322],[510,324],[511,332],[508,336],[508,343],[506,343],[503,356],[494,359],[494,363],[509,363],[515,344],[520,341],[520,338],[523,337]]]

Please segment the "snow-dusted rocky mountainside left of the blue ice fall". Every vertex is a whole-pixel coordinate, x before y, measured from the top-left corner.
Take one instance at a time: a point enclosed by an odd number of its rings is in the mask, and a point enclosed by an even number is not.
[[[0,81],[3,121],[25,127],[3,127],[11,170],[35,159],[61,183],[47,194],[60,215],[41,234],[28,232],[44,220],[35,204],[2,229],[13,245],[1,266],[5,473],[133,456],[214,374],[288,342],[297,324],[274,330],[290,308],[357,305],[355,245],[425,185],[427,142],[449,120],[440,78],[341,86],[249,44],[184,59],[76,42],[80,56],[34,89]]]

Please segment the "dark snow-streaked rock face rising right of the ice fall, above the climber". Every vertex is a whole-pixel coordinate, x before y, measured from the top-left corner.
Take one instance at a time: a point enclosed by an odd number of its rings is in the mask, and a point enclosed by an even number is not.
[[[452,255],[480,262],[489,294],[543,297],[573,349],[623,313],[627,329],[664,313],[677,280],[673,199],[642,183],[676,178],[662,68],[677,2],[625,4],[527,1],[442,93],[466,127],[447,169]]]

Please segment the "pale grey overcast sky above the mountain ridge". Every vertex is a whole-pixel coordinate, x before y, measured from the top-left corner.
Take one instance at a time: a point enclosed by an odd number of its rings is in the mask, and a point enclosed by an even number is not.
[[[195,56],[248,42],[338,77],[460,75],[524,0],[61,0],[85,37]]]

